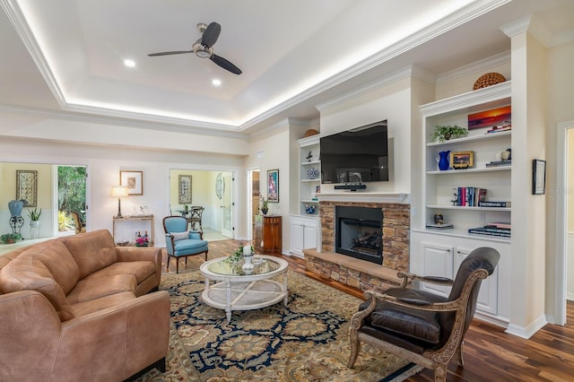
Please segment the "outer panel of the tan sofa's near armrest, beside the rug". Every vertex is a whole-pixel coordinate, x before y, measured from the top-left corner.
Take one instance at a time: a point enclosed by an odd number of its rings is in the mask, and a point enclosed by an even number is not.
[[[73,372],[65,379],[123,380],[164,358],[169,342],[170,295],[148,293],[62,323],[55,375]],[[70,354],[74,354],[73,364]],[[97,365],[105,367],[98,370]]]

